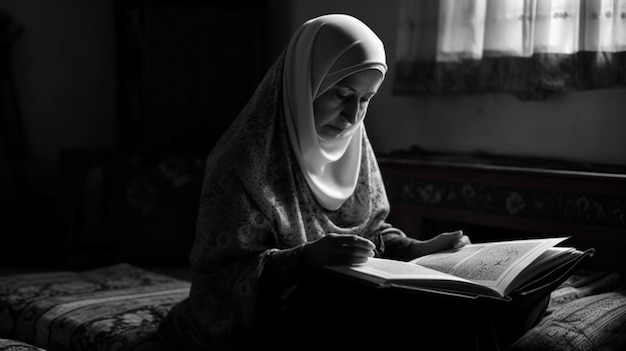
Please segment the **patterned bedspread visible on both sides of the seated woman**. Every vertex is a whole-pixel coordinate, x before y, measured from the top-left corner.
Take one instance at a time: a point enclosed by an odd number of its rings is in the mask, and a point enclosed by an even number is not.
[[[0,351],[165,351],[158,325],[190,283],[126,263],[0,277]],[[546,315],[509,349],[626,350],[626,286],[616,272],[575,272]]]

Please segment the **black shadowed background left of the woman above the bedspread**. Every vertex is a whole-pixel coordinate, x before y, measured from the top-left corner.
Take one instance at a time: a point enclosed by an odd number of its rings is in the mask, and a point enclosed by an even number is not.
[[[25,150],[0,149],[0,264],[186,264],[204,158],[268,66],[264,2],[0,10],[23,29],[3,56]]]

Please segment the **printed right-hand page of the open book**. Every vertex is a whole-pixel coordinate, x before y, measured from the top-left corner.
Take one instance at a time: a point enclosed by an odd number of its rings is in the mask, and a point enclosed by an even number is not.
[[[505,292],[508,292],[508,285],[519,272],[546,249],[565,239],[531,239],[470,244],[458,250],[434,253],[411,262],[493,287],[504,295]]]

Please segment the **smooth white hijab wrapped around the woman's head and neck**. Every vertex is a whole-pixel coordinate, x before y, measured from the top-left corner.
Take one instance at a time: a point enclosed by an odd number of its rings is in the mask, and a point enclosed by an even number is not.
[[[305,22],[287,47],[283,84],[289,138],[300,168],[320,205],[337,210],[352,195],[359,175],[363,121],[335,140],[316,132],[313,101],[345,77],[366,69],[387,72],[376,34],[348,15]]]

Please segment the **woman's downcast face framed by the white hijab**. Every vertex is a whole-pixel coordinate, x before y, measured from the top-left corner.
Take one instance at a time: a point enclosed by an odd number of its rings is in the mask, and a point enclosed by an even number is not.
[[[375,69],[356,72],[330,87],[313,101],[317,135],[322,139],[341,137],[365,118],[367,106],[383,82]]]

